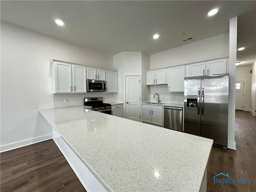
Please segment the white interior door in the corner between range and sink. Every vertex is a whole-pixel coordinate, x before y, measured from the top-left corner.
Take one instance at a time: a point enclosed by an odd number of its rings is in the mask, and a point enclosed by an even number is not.
[[[126,119],[140,122],[140,76],[125,77]]]

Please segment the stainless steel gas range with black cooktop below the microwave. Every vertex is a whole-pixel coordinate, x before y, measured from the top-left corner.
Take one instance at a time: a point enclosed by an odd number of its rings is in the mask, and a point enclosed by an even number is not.
[[[111,104],[103,103],[102,97],[84,98],[84,105],[91,106],[93,111],[111,115]]]

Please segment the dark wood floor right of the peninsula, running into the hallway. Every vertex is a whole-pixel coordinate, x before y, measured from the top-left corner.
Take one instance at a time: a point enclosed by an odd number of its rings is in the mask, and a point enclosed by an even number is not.
[[[256,192],[256,117],[236,110],[235,123],[236,150],[212,148],[207,167],[208,192]],[[214,185],[211,177],[221,172],[231,178],[250,178],[251,183]]]

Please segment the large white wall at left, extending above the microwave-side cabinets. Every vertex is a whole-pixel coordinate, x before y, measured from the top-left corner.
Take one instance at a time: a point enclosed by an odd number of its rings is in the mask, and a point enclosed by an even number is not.
[[[1,151],[51,134],[38,109],[53,106],[52,59],[113,68],[111,55],[1,22]]]

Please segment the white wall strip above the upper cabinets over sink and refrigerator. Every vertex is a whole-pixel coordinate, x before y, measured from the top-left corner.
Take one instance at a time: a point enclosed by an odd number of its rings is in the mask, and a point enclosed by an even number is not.
[[[228,56],[229,33],[223,33],[150,55],[150,69]]]

